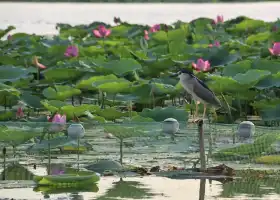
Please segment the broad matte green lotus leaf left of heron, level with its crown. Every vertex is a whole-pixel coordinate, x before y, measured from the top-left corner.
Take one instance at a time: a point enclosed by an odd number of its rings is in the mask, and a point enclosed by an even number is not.
[[[111,70],[116,75],[123,75],[127,72],[142,69],[142,66],[134,59],[122,58],[121,60],[114,60],[103,65],[105,69]]]

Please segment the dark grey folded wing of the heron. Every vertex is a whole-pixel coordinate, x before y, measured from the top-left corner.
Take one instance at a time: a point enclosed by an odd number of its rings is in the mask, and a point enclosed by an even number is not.
[[[210,90],[209,87],[198,78],[196,78],[196,84],[193,85],[193,92],[197,97],[206,101],[207,103],[215,106],[221,106],[221,103],[215,96],[214,92],[212,92],[212,90]]]

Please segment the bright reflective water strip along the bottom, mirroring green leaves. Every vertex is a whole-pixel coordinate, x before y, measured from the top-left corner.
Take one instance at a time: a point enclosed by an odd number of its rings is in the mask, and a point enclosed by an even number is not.
[[[70,169],[53,165],[52,170]],[[72,169],[73,170],[73,169]],[[1,170],[0,199],[71,199],[71,200],[120,200],[120,199],[176,199],[176,200],[255,200],[280,199],[278,178],[245,177],[236,180],[176,180],[161,177],[118,178],[102,177],[98,186],[87,188],[32,187],[34,173],[42,175],[46,168],[9,164]],[[38,172],[40,172],[38,174]],[[20,181],[16,181],[20,180]],[[16,186],[14,188],[13,186]],[[21,188],[19,188],[19,186]],[[25,187],[25,188],[24,188]]]

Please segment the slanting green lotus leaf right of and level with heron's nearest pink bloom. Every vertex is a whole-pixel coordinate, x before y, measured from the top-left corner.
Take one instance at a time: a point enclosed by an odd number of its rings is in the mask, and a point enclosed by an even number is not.
[[[251,65],[252,65],[252,61],[250,60],[242,60],[234,64],[229,64],[224,67],[223,75],[234,77],[238,73],[247,72],[251,68]]]

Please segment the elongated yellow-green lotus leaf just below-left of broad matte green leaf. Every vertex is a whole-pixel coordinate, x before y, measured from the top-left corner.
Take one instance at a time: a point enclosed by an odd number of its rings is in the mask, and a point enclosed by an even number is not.
[[[96,86],[98,86],[99,84],[102,83],[106,83],[106,82],[111,82],[111,81],[117,81],[119,80],[118,77],[116,77],[113,74],[107,75],[107,76],[93,76],[87,80],[82,80],[80,81],[76,87],[78,89],[82,89],[82,90],[97,90]]]

